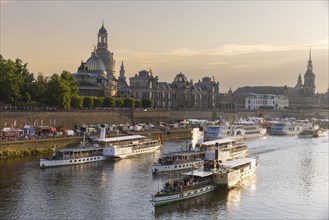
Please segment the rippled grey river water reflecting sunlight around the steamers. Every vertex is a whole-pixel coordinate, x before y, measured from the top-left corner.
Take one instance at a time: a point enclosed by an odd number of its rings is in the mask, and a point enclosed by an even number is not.
[[[159,208],[151,194],[174,174],[153,176],[161,155],[39,169],[39,157],[0,160],[1,219],[328,219],[328,137],[245,141],[256,173],[234,189]],[[162,151],[185,148],[166,142]]]

